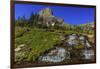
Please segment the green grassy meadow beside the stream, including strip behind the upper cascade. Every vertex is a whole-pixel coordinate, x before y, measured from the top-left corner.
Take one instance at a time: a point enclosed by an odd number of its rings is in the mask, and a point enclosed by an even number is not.
[[[29,29],[29,31],[27,31],[27,29]],[[55,44],[60,43],[60,36],[64,36],[66,34],[83,33],[75,30],[55,30],[55,32],[50,32],[36,27],[15,27],[15,48],[21,44],[32,47],[31,52],[25,51],[26,55],[20,56],[20,61],[22,61],[23,58],[26,58],[27,61],[36,61],[41,53],[53,48]],[[78,48],[83,48],[83,46],[76,46],[76,49]]]

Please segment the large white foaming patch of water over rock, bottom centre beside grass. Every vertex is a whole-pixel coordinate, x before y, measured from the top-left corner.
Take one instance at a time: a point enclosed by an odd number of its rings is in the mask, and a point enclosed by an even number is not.
[[[62,47],[56,47],[47,54],[40,56],[39,60],[44,62],[62,62],[65,58],[70,59],[70,53]]]

